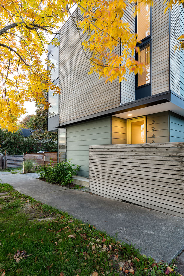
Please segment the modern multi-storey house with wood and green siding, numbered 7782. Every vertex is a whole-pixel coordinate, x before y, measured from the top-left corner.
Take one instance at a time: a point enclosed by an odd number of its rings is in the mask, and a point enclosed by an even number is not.
[[[165,5],[158,0],[137,19],[127,9],[132,32],[142,40],[138,58],[147,70],[127,74],[120,84],[88,75],[90,62],[71,18],[57,35],[60,47],[48,45],[56,66],[52,78],[62,91],[59,98],[48,93],[48,130],[58,131],[59,161],[81,165],[80,176],[89,176],[89,145],[184,141],[184,52],[173,49],[184,32],[184,15],[178,5],[164,13]]]

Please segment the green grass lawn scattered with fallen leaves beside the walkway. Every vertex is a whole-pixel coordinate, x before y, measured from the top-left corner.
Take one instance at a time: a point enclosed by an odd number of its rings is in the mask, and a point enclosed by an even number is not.
[[[0,184],[3,192],[9,197],[0,197],[0,275],[177,275],[173,264],[156,263],[9,184]]]

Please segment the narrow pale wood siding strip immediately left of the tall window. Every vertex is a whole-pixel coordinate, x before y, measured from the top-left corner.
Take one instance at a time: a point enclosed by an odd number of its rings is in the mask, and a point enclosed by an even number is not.
[[[135,33],[135,17],[132,14],[133,4],[128,4],[123,15],[125,22],[129,22],[130,32]],[[121,46],[121,53],[123,51]],[[132,57],[130,55],[129,57]],[[135,58],[135,54],[133,56]],[[128,103],[135,100],[135,74],[129,74],[129,71],[125,74],[126,80],[121,81],[121,103]]]

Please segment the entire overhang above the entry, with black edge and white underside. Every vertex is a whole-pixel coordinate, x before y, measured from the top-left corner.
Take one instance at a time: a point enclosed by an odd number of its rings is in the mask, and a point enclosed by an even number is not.
[[[171,90],[135,100],[129,103],[123,103],[120,104],[120,106],[118,107],[107,109],[92,115],[83,116],[71,121],[66,121],[64,123],[60,123],[60,125],[57,127],[65,127],[71,124],[85,122],[109,115],[127,119],[130,118],[130,116],[128,116],[130,112],[132,114],[131,117],[133,118],[168,110],[184,116],[184,98],[180,95],[177,95]]]

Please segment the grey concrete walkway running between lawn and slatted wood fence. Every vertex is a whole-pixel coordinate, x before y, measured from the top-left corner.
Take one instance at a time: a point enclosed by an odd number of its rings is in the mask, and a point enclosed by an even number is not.
[[[118,240],[135,244],[157,262],[170,262],[184,248],[184,218],[144,207],[67,189],[23,174],[1,175],[21,193],[67,211],[83,222],[105,230]]]

